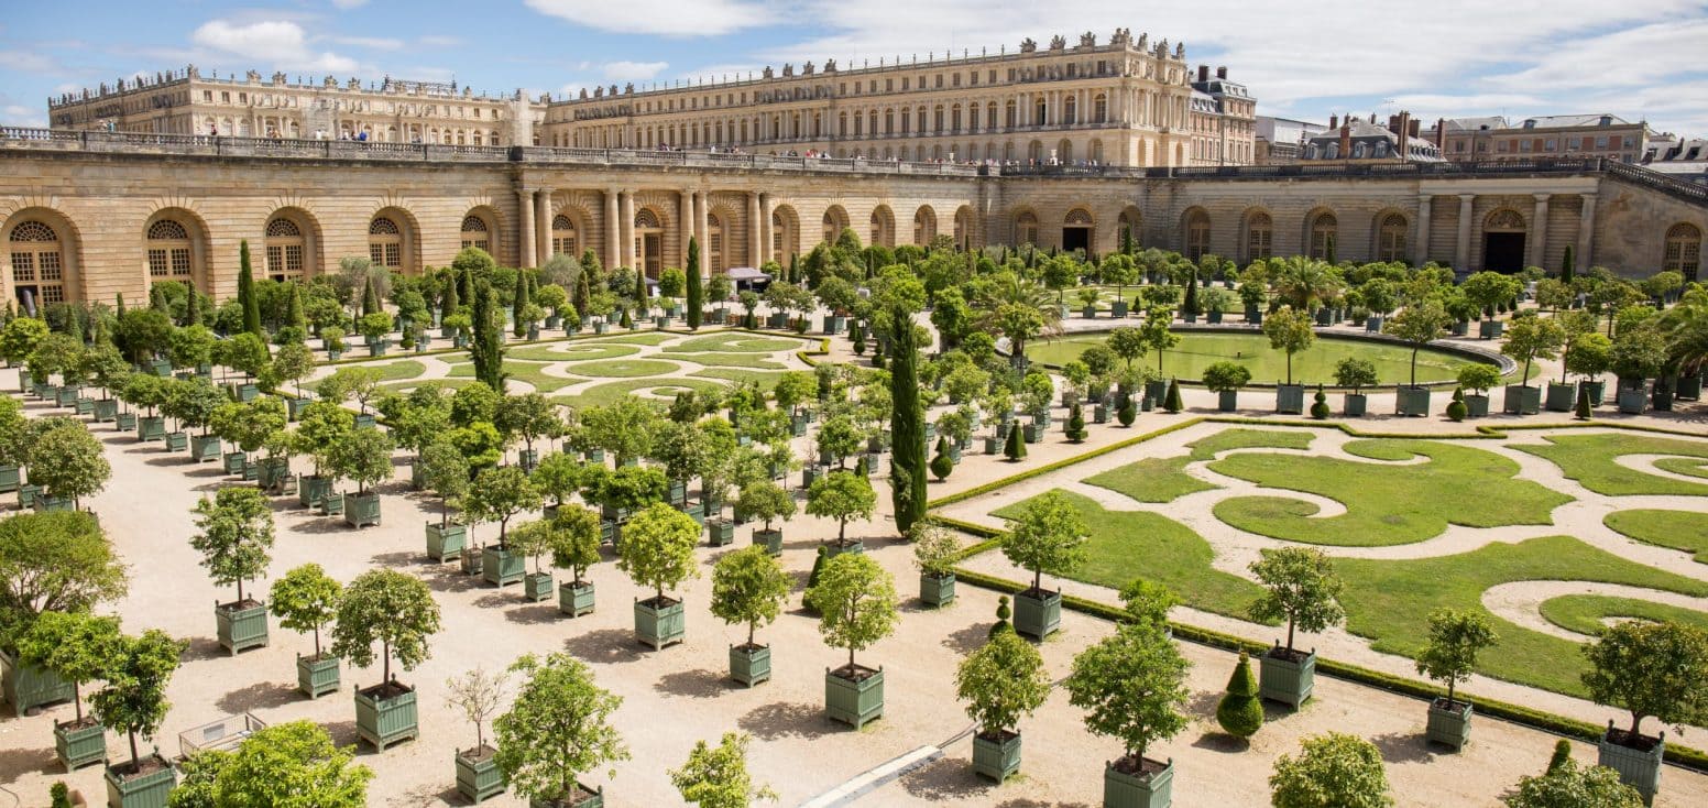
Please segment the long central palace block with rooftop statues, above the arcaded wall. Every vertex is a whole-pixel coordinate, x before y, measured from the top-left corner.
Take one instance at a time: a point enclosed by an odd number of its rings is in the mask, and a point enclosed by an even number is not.
[[[1202,106],[1194,97],[1202,97]],[[548,104],[540,145],[827,154],[868,161],[1250,164],[1255,99],[1185,48],[1117,29],[1018,51],[876,67],[763,68],[692,87],[582,91]],[[1202,155],[1199,155],[1202,154]],[[1213,154],[1213,155],[1211,155]]]

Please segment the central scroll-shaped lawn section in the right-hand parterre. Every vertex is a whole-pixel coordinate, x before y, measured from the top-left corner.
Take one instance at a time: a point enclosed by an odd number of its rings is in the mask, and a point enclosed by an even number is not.
[[[1317,506],[1286,497],[1235,497],[1216,504],[1218,519],[1264,536],[1337,547],[1404,545],[1438,536],[1448,524],[1496,528],[1553,524],[1551,511],[1571,497],[1515,478],[1518,463],[1440,441],[1353,441],[1349,454],[1421,465],[1360,463],[1290,454],[1233,454],[1209,468],[1271,489],[1334,499],[1346,512],[1312,518]]]

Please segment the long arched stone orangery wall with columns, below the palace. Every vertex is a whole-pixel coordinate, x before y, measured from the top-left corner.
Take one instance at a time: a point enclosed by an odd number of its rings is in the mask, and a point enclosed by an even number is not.
[[[656,275],[863,241],[1139,246],[1247,263],[1295,253],[1460,270],[1699,277],[1708,188],[1606,159],[1363,166],[953,166],[835,157],[227,138],[0,128],[0,294],[236,292],[239,243],[275,278],[367,256],[400,272],[465,246],[535,266],[593,249]]]

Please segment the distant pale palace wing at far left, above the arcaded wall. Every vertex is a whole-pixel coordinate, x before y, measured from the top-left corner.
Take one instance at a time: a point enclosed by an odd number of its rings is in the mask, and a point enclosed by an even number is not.
[[[330,75],[319,84],[290,82],[285,73],[263,82],[254,70],[219,79],[203,77],[195,65],[48,99],[55,130],[381,143],[533,145],[533,126],[543,116],[545,104],[521,91],[497,97],[456,82],[391,77],[366,89],[355,79],[340,84]]]

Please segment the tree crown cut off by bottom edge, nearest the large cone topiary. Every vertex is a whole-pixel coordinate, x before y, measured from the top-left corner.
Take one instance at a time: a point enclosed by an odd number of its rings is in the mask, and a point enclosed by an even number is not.
[[[1387,808],[1382,750],[1356,735],[1327,733],[1300,741],[1295,758],[1281,755],[1269,776],[1274,808]]]

